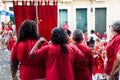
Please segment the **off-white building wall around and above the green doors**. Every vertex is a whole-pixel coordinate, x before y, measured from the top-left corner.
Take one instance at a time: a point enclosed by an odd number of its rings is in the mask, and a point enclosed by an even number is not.
[[[106,8],[106,30],[109,31],[109,25],[118,18],[120,18],[120,0],[106,0],[106,1],[95,1],[95,0],[73,0],[73,2],[63,2],[58,4],[59,8],[61,7],[69,7],[70,15],[68,17],[68,24],[71,31],[74,31],[76,26],[76,15],[75,9],[78,8],[87,8],[88,10],[88,32],[91,29],[95,29],[95,8]],[[93,8],[93,12],[91,12],[91,8]]]

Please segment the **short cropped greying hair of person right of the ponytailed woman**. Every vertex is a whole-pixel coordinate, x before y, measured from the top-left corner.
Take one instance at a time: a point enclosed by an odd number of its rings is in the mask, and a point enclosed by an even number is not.
[[[76,42],[83,41],[83,32],[80,29],[76,29],[73,32],[73,40]]]

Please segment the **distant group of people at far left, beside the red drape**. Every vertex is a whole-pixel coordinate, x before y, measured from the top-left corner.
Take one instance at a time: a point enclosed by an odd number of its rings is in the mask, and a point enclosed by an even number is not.
[[[7,48],[11,51],[13,44],[16,42],[16,34],[12,22],[1,22],[0,27],[0,49]]]

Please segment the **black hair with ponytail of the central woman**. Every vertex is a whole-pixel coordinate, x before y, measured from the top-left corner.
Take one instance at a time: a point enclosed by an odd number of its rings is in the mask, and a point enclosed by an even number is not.
[[[54,28],[52,31],[51,41],[53,44],[60,44],[63,52],[67,53],[66,43],[68,41],[67,33],[62,28]]]

